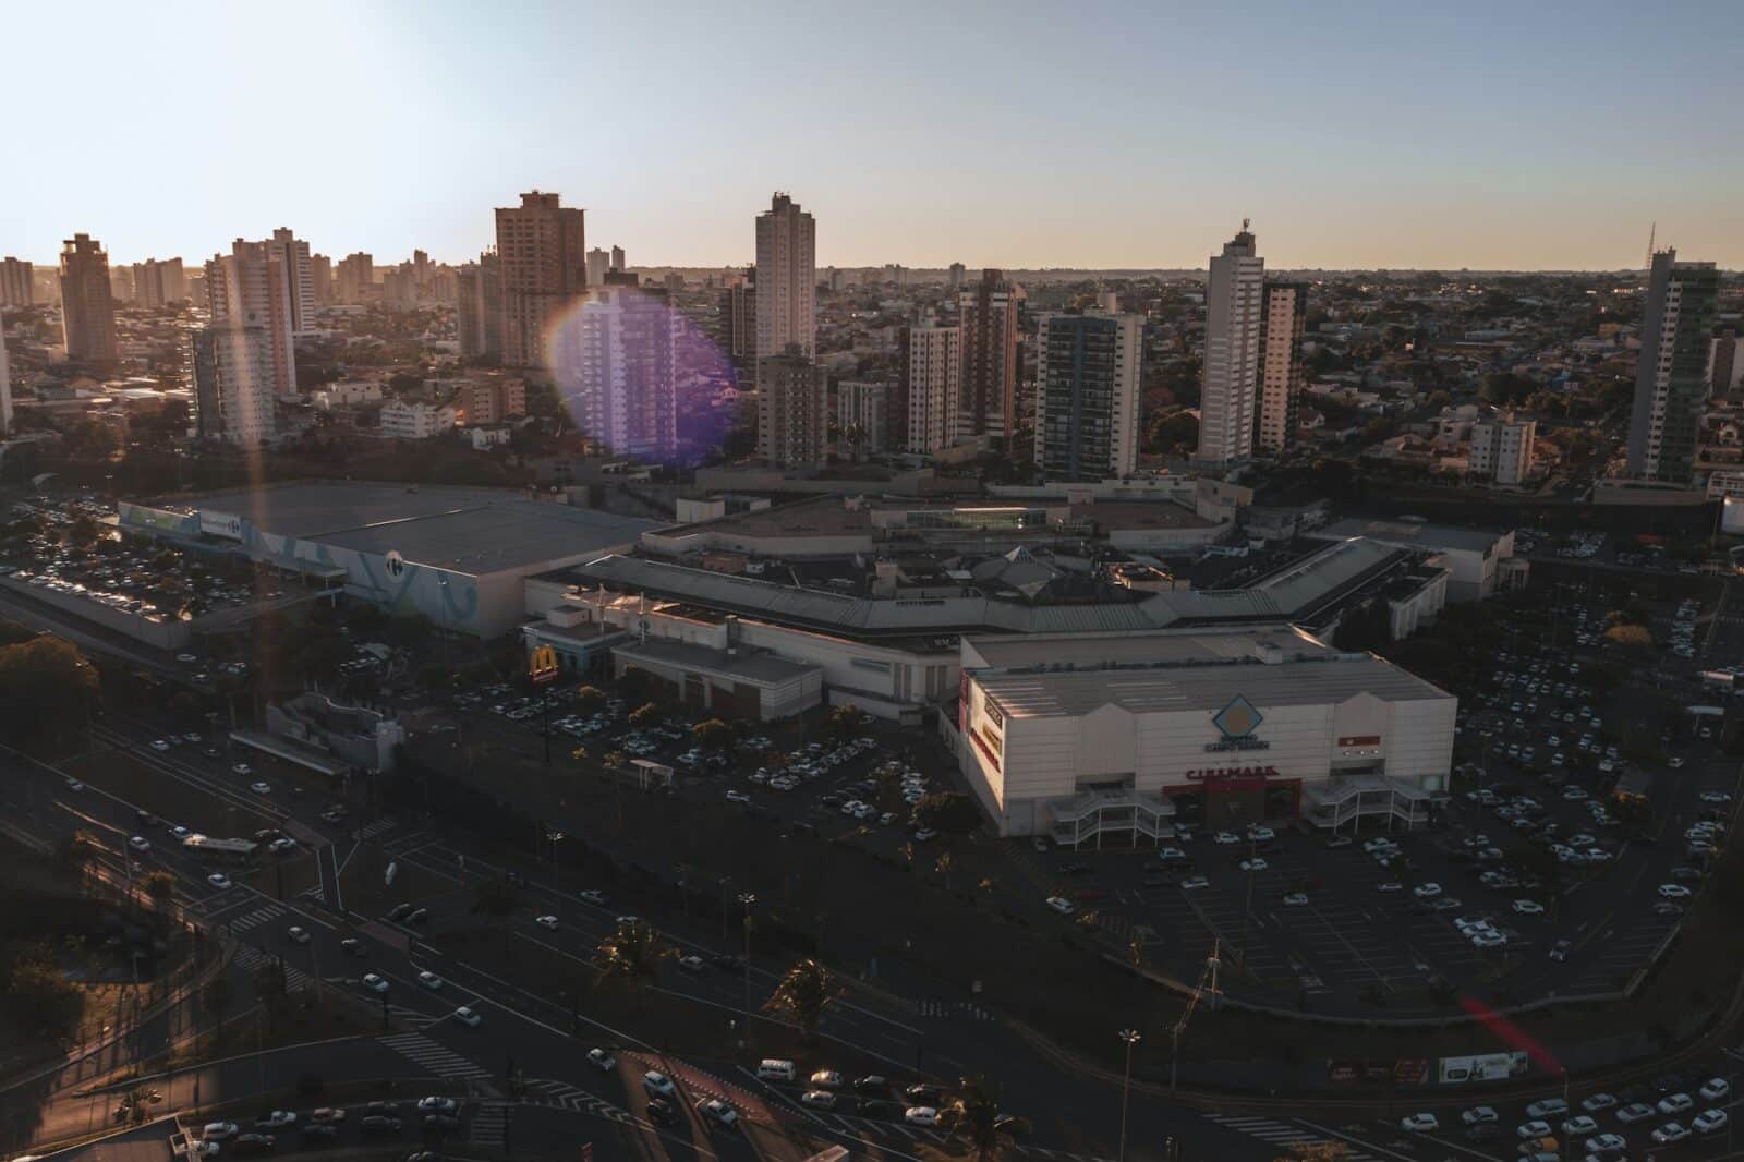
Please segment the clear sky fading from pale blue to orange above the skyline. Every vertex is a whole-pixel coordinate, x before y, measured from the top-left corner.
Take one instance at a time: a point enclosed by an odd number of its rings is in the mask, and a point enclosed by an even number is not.
[[[1216,9],[1216,10],[1214,10]],[[1230,10],[1223,10],[1230,9]],[[0,255],[290,225],[464,262],[556,190],[631,265],[1744,267],[1735,0],[9,3]]]

